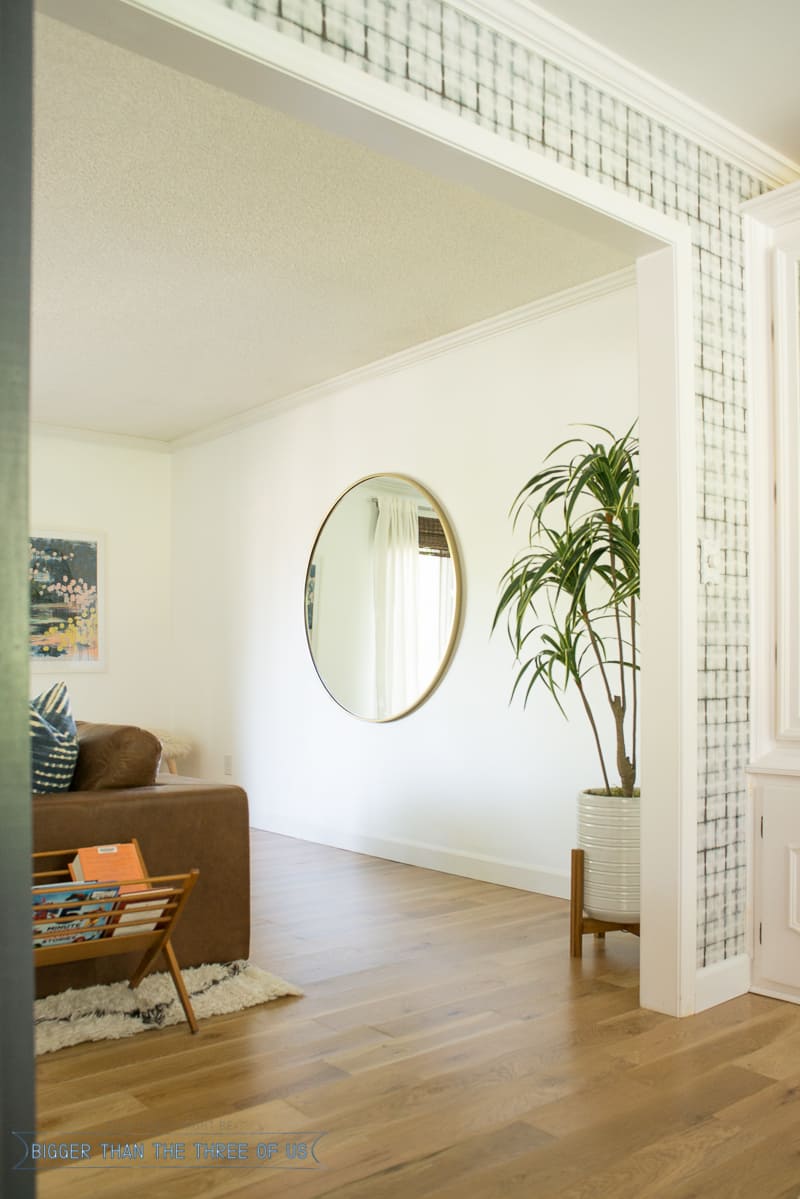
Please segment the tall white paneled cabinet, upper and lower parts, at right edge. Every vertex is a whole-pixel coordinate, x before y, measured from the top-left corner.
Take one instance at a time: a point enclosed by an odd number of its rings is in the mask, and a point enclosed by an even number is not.
[[[750,309],[752,989],[800,1002],[800,183],[744,206]]]

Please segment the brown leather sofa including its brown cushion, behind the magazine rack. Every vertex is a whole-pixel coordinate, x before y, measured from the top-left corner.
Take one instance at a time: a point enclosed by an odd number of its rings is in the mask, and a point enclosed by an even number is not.
[[[161,742],[144,729],[78,724],[73,789],[35,795],[34,850],[139,842],[150,874],[197,867],[173,945],[181,966],[249,953],[249,818],[239,787],[157,776]],[[136,779],[146,782],[136,783]],[[161,781],[163,778],[163,782]],[[42,966],[37,995],[130,977],[128,954]],[[156,970],[164,969],[163,962]]]

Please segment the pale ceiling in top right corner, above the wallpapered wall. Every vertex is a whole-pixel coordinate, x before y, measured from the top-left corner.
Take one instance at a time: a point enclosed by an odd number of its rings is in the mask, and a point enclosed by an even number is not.
[[[542,0],[539,7],[800,162],[799,0]]]

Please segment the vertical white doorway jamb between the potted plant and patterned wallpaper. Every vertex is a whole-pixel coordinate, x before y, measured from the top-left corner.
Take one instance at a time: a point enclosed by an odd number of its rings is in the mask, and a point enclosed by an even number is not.
[[[691,251],[637,263],[642,507],[639,999],[694,1011],[697,493]],[[690,398],[691,397],[691,398]]]

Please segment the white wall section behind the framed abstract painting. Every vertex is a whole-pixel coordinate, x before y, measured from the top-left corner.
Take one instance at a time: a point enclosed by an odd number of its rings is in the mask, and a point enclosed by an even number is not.
[[[172,724],[168,454],[34,430],[31,529],[100,532],[106,547],[103,670],[31,670],[31,694],[65,679],[78,719]]]

